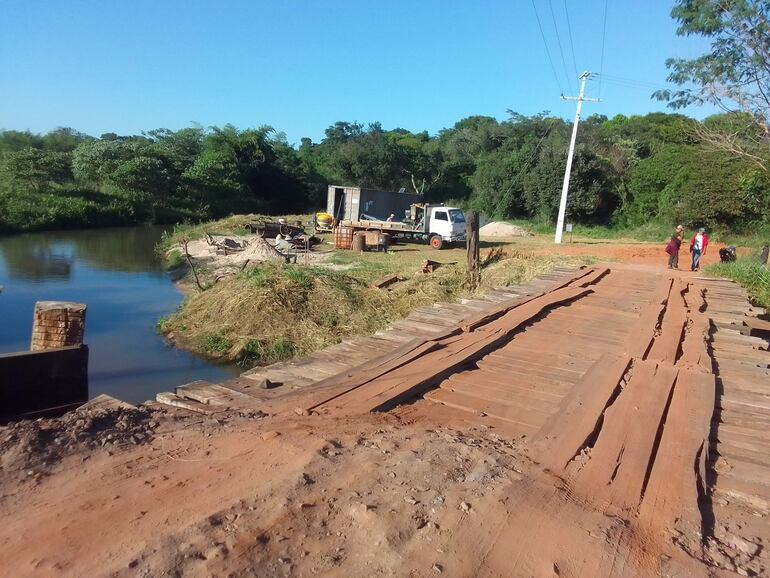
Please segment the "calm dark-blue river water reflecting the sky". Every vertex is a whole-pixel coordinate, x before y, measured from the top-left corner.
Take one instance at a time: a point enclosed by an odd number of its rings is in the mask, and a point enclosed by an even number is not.
[[[53,231],[0,237],[0,353],[29,349],[36,301],[88,305],[89,393],[138,403],[238,368],[167,345],[155,326],[182,301],[156,257],[164,228]]]

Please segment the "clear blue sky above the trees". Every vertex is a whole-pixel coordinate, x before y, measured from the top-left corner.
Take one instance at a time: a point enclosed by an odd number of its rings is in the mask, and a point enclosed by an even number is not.
[[[665,59],[705,48],[675,35],[673,0],[609,0],[602,66],[604,0],[534,1],[558,81],[531,0],[0,0],[0,129],[230,122],[297,143],[378,120],[433,134],[507,109],[572,117],[559,94],[576,92],[575,68],[606,78],[585,114],[644,114],[665,110],[650,99]]]

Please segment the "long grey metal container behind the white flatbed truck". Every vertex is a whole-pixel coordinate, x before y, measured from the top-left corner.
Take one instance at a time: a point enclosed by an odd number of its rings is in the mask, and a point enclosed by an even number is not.
[[[357,221],[361,213],[383,221],[393,213],[396,221],[402,221],[409,207],[421,202],[422,195],[416,193],[329,185],[326,212],[338,221]]]

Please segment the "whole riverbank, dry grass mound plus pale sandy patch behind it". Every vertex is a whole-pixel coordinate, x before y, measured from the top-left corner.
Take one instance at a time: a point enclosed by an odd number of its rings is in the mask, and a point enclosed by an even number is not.
[[[418,307],[527,282],[559,264],[592,261],[583,255],[536,255],[522,250],[518,239],[489,239],[482,243],[481,284],[471,287],[464,247],[436,251],[427,245],[403,244],[386,253],[359,254],[334,250],[326,236],[307,264],[302,255],[296,264],[287,264],[283,259],[248,260],[246,251],[217,256],[207,245],[206,233],[247,241],[247,251],[259,246],[265,241],[243,235],[244,225],[255,218],[234,216],[179,228],[159,246],[167,259],[178,259],[182,240],[187,240],[205,287],[201,291],[188,274],[181,281],[187,292],[184,303],[158,324],[178,347],[244,367],[266,365],[371,335]],[[306,222],[307,217],[287,217],[293,220]],[[426,259],[438,263],[431,273],[422,272]],[[374,286],[386,277],[397,280],[384,288]]]

